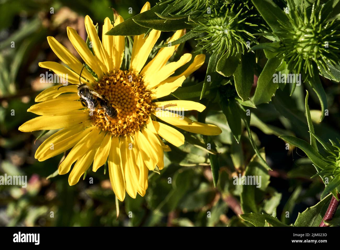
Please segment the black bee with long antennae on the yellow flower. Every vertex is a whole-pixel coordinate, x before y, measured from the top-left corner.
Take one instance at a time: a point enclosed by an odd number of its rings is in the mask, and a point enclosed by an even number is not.
[[[102,95],[99,95],[96,91],[90,89],[86,83],[82,83],[80,81],[84,67],[85,65],[80,71],[80,76],[79,76],[80,84],[69,84],[69,85],[78,85],[77,89],[78,89],[78,96],[80,97],[80,101],[84,107],[88,108],[90,112],[95,111],[96,107],[98,106],[98,101],[99,101],[106,115],[111,118],[115,118],[118,112],[111,104],[109,104],[109,102],[105,99],[105,97]],[[61,86],[61,87],[64,87],[64,86]],[[59,87],[58,89],[60,89],[61,87]]]

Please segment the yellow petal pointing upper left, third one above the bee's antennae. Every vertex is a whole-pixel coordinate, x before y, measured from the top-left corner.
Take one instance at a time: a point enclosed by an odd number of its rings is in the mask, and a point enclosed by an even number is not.
[[[67,27],[67,35],[70,39],[75,50],[77,50],[78,54],[82,57],[84,62],[97,74],[98,78],[101,79],[103,77],[103,71],[99,65],[99,61],[92,54],[92,52],[87,48],[85,41],[78,35],[77,31],[72,29],[71,27]]]

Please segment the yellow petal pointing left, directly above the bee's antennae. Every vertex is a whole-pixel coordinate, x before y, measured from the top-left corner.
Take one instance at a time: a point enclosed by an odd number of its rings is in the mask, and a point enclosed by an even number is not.
[[[39,66],[41,68],[47,68],[52,70],[54,73],[56,73],[60,77],[60,83],[61,84],[79,84],[79,75],[73,72],[72,70],[66,68],[65,66],[61,65],[60,63],[56,62],[41,62],[39,63]],[[41,74],[43,75],[43,74]],[[41,76],[40,75],[40,76]],[[85,81],[85,79],[82,77],[82,80]],[[60,87],[61,85],[59,85]],[[62,88],[60,88],[62,89]]]

